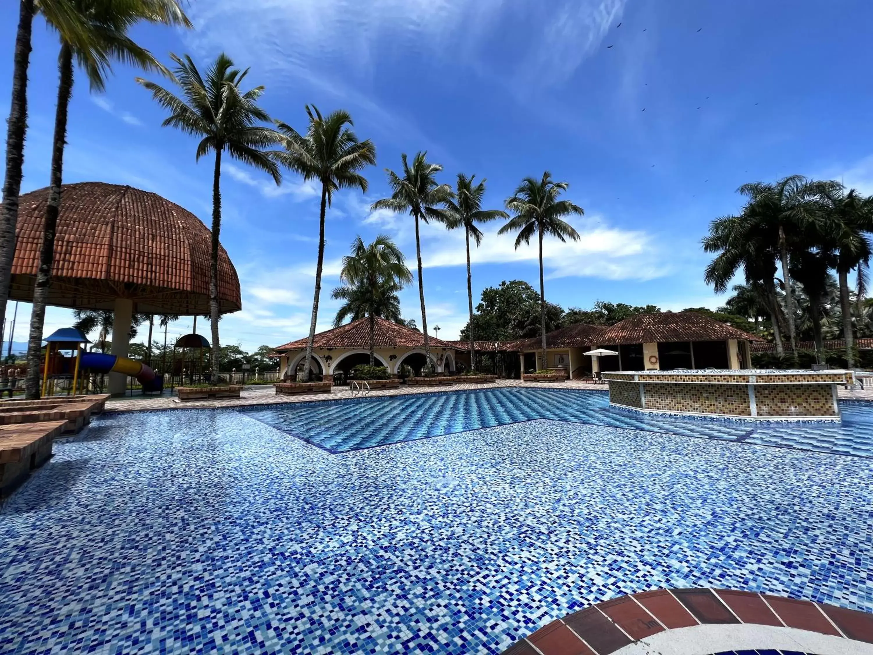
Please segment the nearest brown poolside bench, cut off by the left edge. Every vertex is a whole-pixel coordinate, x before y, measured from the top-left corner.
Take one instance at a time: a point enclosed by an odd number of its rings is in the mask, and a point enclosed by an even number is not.
[[[66,421],[0,425],[0,496],[24,482],[52,457],[52,441]]]

